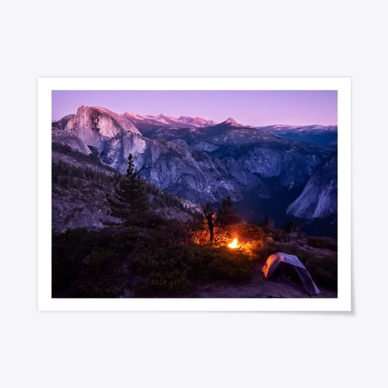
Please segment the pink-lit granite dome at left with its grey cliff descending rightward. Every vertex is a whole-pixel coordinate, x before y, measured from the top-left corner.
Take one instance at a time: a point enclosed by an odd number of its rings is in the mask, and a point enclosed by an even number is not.
[[[141,136],[122,115],[98,107],[81,106],[65,131],[97,148],[102,162],[125,173],[128,155],[139,174],[162,190],[204,204],[224,196],[241,197],[225,167],[183,142],[166,142]]]

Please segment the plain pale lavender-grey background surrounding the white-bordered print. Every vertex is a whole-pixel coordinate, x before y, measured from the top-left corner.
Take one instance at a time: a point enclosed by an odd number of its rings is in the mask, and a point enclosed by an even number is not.
[[[1,386],[384,385],[382,1],[3,0],[0,19]],[[352,77],[352,313],[37,312],[37,77],[151,75]]]

